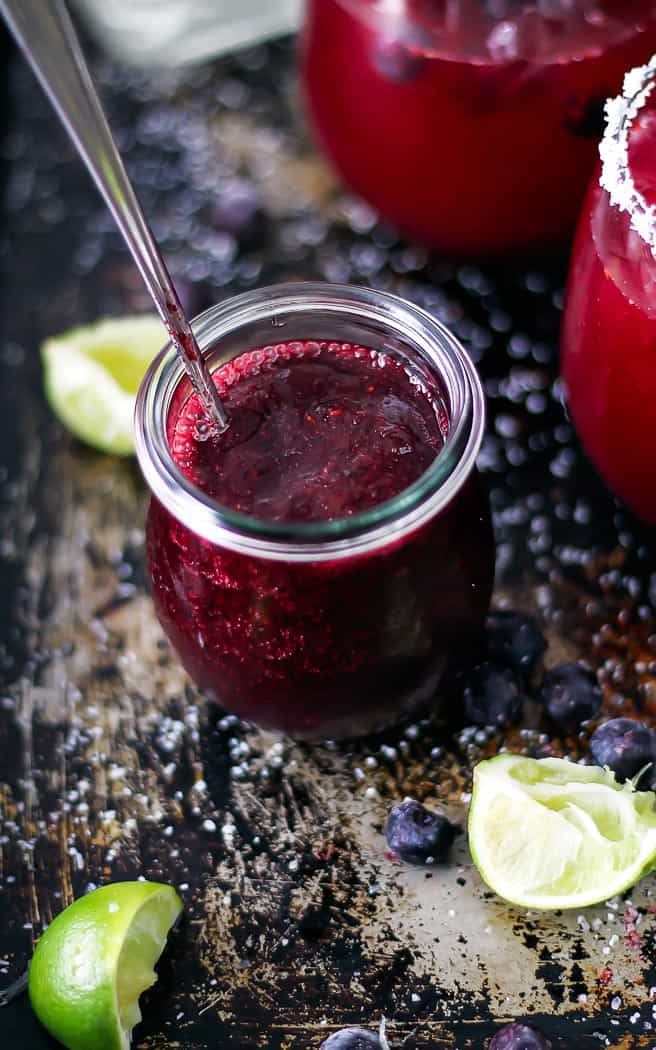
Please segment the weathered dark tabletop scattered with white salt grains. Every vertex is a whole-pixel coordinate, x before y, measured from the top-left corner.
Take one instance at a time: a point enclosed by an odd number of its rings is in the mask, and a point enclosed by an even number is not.
[[[97,68],[193,309],[267,281],[321,277],[392,289],[454,328],[489,396],[482,461],[496,601],[539,612],[549,663],[581,655],[602,668],[608,712],[656,714],[651,536],[587,466],[559,402],[564,261],[458,267],[376,225],[300,129],[288,45],[179,76]],[[48,334],[148,303],[18,61],[9,98],[0,985],[76,896],[143,875],[179,887],[187,920],[146,999],[140,1050],[300,1050],[381,1015],[394,1046],[482,1050],[500,1023],[528,1014],[567,1047],[652,1047],[653,879],[585,916],[527,916],[484,890],[464,836],[456,863],[431,872],[385,857],[389,801],[440,799],[462,822],[471,766],[500,737],[433,717],[381,739],[304,748],[208,709],[177,668],[145,589],[136,467],[62,432],[38,356]],[[216,209],[234,175],[259,201],[236,238]],[[585,739],[545,735],[534,708],[505,742],[586,752]],[[0,1031],[12,1048],[52,1045],[26,1000],[1,1011]]]

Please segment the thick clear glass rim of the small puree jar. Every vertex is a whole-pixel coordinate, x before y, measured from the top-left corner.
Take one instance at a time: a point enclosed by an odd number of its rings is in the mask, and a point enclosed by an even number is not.
[[[436,372],[449,399],[449,428],[430,466],[393,499],[348,518],[312,523],[266,522],[207,496],[179,469],[170,450],[167,421],[185,370],[171,342],[146,373],[134,411],[136,456],[155,499],[204,539],[229,549],[283,561],[324,561],[387,546],[439,513],[471,474],[485,427],[485,399],[471,359],[439,320],[420,307],[364,287],[283,284],[226,299],[192,324],[207,356],[240,328],[272,324],[280,341],[287,319],[322,315],[383,324]],[[309,330],[309,339],[316,338]],[[244,346],[242,350],[253,349]],[[378,349],[378,348],[376,348]]]

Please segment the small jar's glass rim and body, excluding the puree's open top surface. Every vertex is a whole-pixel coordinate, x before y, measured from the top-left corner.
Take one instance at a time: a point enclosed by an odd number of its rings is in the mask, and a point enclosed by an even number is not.
[[[155,609],[196,684],[229,711],[302,738],[360,735],[409,714],[435,698],[490,598],[492,532],[475,468],[484,398],[470,359],[429,314],[364,288],[250,292],[194,330],[212,370],[281,339],[325,339],[384,351],[410,376],[438,380],[448,423],[430,467],[393,500],[314,523],[247,517],[181,472],[167,425],[189,383],[170,346],[135,415]]]

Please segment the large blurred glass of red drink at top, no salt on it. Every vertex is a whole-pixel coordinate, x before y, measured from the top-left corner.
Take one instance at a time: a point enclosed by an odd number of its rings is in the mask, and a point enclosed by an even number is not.
[[[457,255],[559,245],[602,104],[656,50],[653,0],[306,0],[318,140],[405,234]]]

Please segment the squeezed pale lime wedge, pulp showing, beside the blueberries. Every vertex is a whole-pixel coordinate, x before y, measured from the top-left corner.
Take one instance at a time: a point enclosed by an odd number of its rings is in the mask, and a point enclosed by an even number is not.
[[[656,795],[610,770],[499,755],[473,773],[469,845],[488,886],[526,908],[580,908],[656,864]]]

